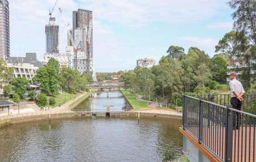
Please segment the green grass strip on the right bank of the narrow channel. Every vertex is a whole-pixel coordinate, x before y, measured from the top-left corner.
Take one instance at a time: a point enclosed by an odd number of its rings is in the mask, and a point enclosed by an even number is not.
[[[141,100],[137,100],[137,95],[134,95],[129,92],[129,90],[125,90],[124,88],[120,88],[122,93],[124,93],[127,100],[129,100],[130,104],[135,110],[139,110],[140,108],[147,108],[150,105],[150,102],[145,102]]]

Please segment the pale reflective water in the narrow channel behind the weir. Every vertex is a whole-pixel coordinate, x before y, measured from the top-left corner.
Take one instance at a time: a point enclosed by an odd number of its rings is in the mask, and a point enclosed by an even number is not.
[[[111,106],[111,112],[130,110],[130,105],[119,91],[94,92],[75,111],[106,112],[107,106]]]

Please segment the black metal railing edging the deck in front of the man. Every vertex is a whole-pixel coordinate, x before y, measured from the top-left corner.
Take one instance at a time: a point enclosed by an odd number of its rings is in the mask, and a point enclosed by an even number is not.
[[[222,161],[256,161],[256,115],[183,96],[185,131]]]

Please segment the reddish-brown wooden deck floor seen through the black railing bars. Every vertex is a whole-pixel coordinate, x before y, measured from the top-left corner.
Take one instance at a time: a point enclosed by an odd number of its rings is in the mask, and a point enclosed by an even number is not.
[[[256,161],[256,126],[241,126],[240,130],[233,131],[232,161]],[[188,127],[187,130],[180,129],[180,132],[190,141],[198,140],[198,127]],[[192,135],[194,134],[194,135]],[[188,136],[189,135],[189,136]],[[230,139],[231,140],[231,139]],[[215,156],[219,160],[225,159],[225,127],[224,126],[204,126],[201,151],[207,158],[209,155]],[[198,146],[197,146],[198,147]],[[206,148],[206,149],[205,149]],[[212,151],[210,151],[212,150]],[[209,159],[212,161],[213,159]],[[215,159],[216,160],[216,159]],[[214,161],[215,161],[214,160]]]

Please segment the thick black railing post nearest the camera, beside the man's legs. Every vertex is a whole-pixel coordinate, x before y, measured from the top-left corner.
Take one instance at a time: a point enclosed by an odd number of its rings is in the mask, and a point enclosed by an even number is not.
[[[225,161],[232,161],[234,112],[230,110],[230,108],[232,108],[232,106],[228,105],[225,125]]]

